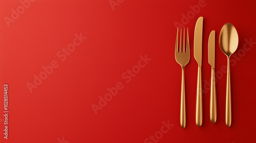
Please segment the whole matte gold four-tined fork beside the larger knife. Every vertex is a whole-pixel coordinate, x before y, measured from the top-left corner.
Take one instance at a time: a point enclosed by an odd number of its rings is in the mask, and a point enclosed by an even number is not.
[[[189,51],[189,40],[188,40],[188,28],[187,28],[187,42],[186,42],[186,51],[185,51],[185,28],[183,34],[183,49],[181,49],[181,35],[182,35],[182,28],[180,28],[180,48],[178,51],[178,33],[179,28],[177,30],[177,37],[175,43],[175,59],[177,63],[181,65],[182,68],[182,80],[181,80],[181,102],[180,102],[180,125],[182,128],[186,126],[186,105],[185,105],[185,84],[184,84],[184,67],[188,63],[190,58],[190,51]]]

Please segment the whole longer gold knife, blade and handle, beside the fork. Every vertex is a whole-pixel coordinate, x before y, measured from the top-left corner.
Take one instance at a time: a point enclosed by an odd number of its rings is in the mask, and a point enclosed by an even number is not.
[[[198,63],[198,78],[197,78],[197,101],[196,101],[196,124],[198,127],[202,125],[203,108],[202,108],[202,38],[203,38],[203,17],[197,19],[194,33],[194,57]]]

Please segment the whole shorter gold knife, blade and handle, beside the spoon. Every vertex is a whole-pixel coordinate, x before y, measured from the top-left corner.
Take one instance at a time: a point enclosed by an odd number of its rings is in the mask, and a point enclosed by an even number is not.
[[[216,86],[215,86],[215,31],[212,30],[208,40],[208,62],[211,65],[211,84],[210,84],[210,121],[215,123],[217,120]]]

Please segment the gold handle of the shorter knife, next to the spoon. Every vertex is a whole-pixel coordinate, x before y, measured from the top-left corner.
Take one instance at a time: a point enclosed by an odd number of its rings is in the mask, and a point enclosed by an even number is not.
[[[215,123],[217,120],[217,103],[216,103],[216,86],[215,86],[215,70],[211,68],[210,82],[210,121]]]

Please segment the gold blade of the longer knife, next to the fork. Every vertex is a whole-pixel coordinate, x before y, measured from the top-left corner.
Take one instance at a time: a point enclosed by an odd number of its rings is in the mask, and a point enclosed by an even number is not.
[[[194,34],[194,57],[199,66],[202,65],[203,17],[197,19]]]

